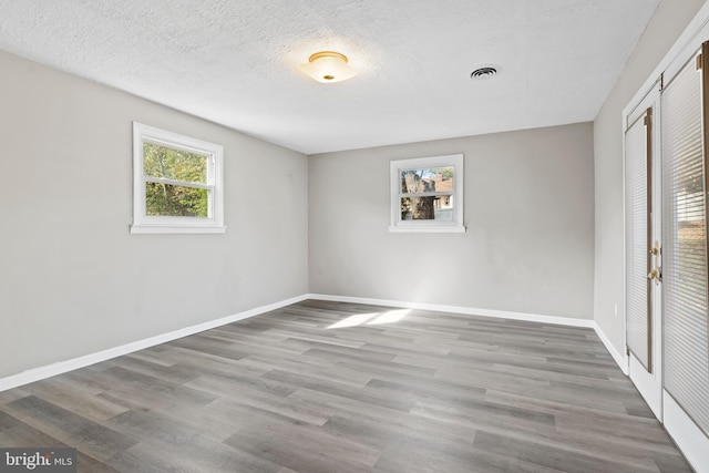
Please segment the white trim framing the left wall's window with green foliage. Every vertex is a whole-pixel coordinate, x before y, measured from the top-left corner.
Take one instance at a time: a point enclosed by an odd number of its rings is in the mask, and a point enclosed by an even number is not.
[[[143,143],[155,143],[209,156],[206,188],[212,193],[207,218],[145,215]],[[133,225],[132,234],[223,234],[224,146],[133,122]]]

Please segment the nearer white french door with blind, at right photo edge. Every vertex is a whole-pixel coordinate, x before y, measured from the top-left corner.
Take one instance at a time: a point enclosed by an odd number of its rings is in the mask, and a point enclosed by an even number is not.
[[[709,471],[707,144],[709,43],[676,61],[662,88],[664,421]]]

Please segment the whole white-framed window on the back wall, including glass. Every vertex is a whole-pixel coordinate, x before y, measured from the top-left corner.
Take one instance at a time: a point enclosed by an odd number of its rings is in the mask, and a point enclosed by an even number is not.
[[[398,160],[390,165],[390,232],[465,232],[462,154]]]

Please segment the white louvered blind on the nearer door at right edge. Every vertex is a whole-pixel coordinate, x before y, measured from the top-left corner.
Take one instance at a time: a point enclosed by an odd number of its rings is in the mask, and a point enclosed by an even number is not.
[[[707,246],[701,72],[690,61],[662,91],[665,389],[709,432]]]

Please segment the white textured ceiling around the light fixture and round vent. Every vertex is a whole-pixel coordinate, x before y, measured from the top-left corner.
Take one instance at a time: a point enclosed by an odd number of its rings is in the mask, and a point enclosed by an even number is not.
[[[0,49],[314,154],[594,120],[658,3],[0,0]]]

